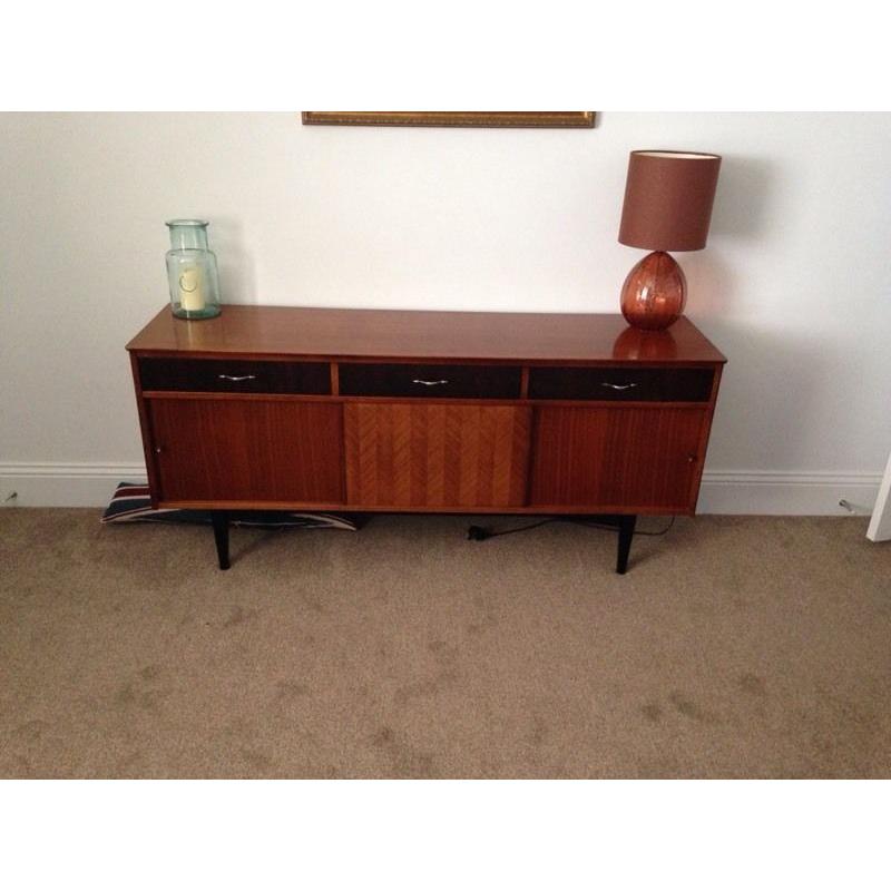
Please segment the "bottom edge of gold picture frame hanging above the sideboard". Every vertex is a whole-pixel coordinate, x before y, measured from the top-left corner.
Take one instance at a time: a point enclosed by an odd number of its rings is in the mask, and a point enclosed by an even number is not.
[[[304,124],[351,127],[594,127],[594,111],[302,111]]]

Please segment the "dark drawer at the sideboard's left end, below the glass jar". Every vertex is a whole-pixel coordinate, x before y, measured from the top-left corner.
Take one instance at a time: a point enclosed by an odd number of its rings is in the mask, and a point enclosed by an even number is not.
[[[326,362],[228,359],[140,359],[143,390],[225,393],[331,392]]]

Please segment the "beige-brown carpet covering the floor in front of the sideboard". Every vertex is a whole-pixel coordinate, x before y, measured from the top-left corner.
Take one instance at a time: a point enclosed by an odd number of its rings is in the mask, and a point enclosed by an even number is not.
[[[468,522],[234,530],[219,572],[209,529],[0,510],[0,775],[891,776],[865,520],[678,519],[625,577]]]

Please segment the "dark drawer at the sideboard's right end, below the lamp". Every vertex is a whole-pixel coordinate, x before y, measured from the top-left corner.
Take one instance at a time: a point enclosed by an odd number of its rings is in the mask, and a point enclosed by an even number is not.
[[[533,368],[530,399],[609,402],[708,402],[712,369]]]

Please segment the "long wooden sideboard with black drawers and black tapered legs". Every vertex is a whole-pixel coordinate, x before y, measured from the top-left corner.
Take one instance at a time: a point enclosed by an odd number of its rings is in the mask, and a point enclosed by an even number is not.
[[[155,507],[692,515],[725,358],[687,320],[224,306],[127,345]]]

